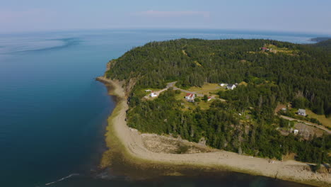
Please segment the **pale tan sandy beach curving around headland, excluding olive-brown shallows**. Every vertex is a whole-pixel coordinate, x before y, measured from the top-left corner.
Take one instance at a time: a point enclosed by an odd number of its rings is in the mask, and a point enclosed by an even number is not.
[[[109,125],[112,125],[112,135],[116,136],[131,157],[145,161],[160,162],[165,164],[182,164],[194,166],[207,166],[211,169],[223,168],[229,171],[237,171],[246,174],[268,176],[286,181],[307,183],[314,186],[331,186],[330,174],[314,173],[310,171],[308,164],[294,160],[278,161],[250,157],[216,150],[214,152],[192,153],[192,154],[169,154],[156,153],[146,149],[141,134],[137,130],[129,128],[126,123],[127,96],[119,81],[112,81],[104,77],[98,77],[99,81],[112,86],[112,94],[117,96],[116,112],[112,113]],[[116,110],[117,109],[117,110]],[[110,128],[110,127],[108,127]],[[108,129],[109,130],[109,129]],[[110,133],[106,134],[107,145]],[[103,157],[102,163],[108,162],[108,154]]]

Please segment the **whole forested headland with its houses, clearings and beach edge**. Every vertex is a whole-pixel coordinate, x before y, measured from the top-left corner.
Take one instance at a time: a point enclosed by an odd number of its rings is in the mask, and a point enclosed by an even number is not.
[[[330,43],[180,39],[129,50],[98,77],[118,101],[101,167],[115,167],[116,154],[141,169],[185,164],[327,186]]]

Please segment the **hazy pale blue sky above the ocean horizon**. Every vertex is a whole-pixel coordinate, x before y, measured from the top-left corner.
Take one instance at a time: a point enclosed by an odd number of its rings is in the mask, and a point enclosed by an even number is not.
[[[216,28],[331,34],[330,0],[0,0],[0,33]]]

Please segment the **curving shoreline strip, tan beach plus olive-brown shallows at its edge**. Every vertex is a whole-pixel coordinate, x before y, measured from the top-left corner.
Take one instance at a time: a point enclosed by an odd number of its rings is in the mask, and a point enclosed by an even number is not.
[[[308,164],[292,160],[270,163],[269,159],[249,157],[222,150],[194,154],[151,152],[144,146],[139,132],[127,126],[126,112],[129,106],[122,84],[119,81],[105,79],[105,77],[98,77],[97,80],[103,82],[108,88],[111,87],[109,94],[117,98],[116,106],[108,118],[106,128],[105,142],[108,151],[103,154],[100,162],[100,167],[103,169],[111,166],[120,174],[139,179],[146,177],[146,174],[150,177],[156,175],[151,173],[158,173],[158,176],[190,175],[190,172],[184,171],[185,169],[192,169],[193,175],[193,171],[197,170],[209,173],[234,171],[313,186],[330,186],[330,174],[313,173],[309,170]],[[127,171],[127,168],[133,171]],[[152,169],[158,172],[153,172]],[[141,170],[144,170],[142,172],[144,174],[141,174]],[[195,173],[195,175],[197,174]]]

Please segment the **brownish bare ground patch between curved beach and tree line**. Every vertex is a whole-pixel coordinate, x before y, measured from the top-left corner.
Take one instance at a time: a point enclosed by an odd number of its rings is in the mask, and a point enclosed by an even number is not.
[[[188,142],[181,138],[155,134],[141,134],[141,137],[145,147],[149,149],[149,151],[156,153],[193,154],[215,151],[205,145]]]

